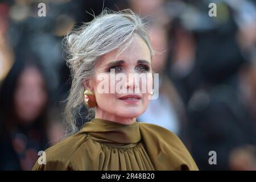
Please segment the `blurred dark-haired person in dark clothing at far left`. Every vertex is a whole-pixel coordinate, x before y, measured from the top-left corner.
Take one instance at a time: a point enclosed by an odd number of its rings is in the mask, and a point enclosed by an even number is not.
[[[15,61],[0,88],[0,169],[31,170],[47,145],[48,90],[36,60]]]

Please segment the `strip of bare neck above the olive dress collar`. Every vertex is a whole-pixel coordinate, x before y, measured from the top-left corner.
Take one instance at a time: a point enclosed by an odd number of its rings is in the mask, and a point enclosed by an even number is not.
[[[95,113],[95,118],[105,119],[108,121],[113,121],[113,122],[127,124],[127,125],[136,122],[136,118],[123,118],[123,117],[119,117],[118,115],[98,111],[97,109]]]

